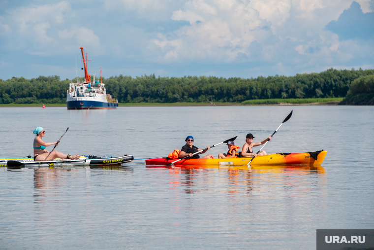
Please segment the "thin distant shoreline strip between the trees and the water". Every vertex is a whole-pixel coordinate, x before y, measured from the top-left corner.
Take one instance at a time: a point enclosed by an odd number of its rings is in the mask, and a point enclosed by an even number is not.
[[[215,103],[215,106],[333,106],[340,105],[342,101],[315,102],[315,103],[279,103],[279,104],[242,104],[242,103]],[[66,104],[44,104],[45,107],[66,107]],[[119,107],[205,107],[210,103],[119,103]],[[0,104],[0,107],[43,107],[43,104]]]

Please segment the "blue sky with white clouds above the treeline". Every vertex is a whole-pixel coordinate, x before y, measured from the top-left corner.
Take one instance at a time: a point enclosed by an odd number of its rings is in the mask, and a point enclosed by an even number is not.
[[[374,0],[0,0],[0,79],[374,69]]]

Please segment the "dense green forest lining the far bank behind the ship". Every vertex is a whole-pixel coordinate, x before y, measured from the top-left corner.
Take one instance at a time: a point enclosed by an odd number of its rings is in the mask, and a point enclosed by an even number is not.
[[[71,81],[59,76],[0,79],[0,104],[66,102]],[[83,78],[81,79],[83,80]],[[295,76],[223,78],[214,76],[103,78],[107,93],[119,103],[236,102],[258,99],[345,97],[343,104],[374,104],[374,70],[334,70]]]

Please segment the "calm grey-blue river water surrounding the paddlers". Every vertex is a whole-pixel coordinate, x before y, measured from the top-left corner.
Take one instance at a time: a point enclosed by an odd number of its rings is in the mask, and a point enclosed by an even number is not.
[[[204,148],[327,150],[318,167],[149,167],[187,136]],[[1,107],[0,157],[134,155],[121,167],[0,168],[1,250],[315,249],[316,229],[374,229],[374,107]],[[52,147],[49,148],[51,150]],[[259,149],[255,148],[257,151]],[[208,153],[226,152],[224,144]]]

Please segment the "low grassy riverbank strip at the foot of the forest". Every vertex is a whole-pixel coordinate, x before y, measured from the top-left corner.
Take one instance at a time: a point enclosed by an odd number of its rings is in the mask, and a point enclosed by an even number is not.
[[[308,99],[260,99],[242,103],[120,103],[119,107],[183,107],[183,106],[304,106],[304,105],[339,105],[343,98],[308,98]],[[62,104],[44,104],[45,107],[66,107]],[[42,107],[43,104],[1,104],[0,107]]]

